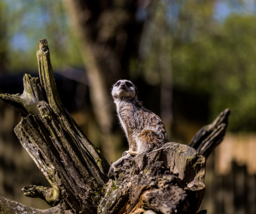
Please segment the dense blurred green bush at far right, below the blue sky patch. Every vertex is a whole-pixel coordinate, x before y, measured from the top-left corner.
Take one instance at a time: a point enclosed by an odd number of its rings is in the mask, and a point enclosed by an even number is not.
[[[229,107],[232,131],[255,130],[255,21],[254,15],[232,15],[218,33],[173,50],[175,86],[207,92],[212,117]]]

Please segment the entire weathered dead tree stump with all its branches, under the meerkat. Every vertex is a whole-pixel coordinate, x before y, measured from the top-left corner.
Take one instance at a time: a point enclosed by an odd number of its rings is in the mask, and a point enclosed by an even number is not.
[[[0,196],[1,213],[197,212],[205,191],[205,157],[223,139],[229,110],[201,129],[191,146],[169,142],[110,167],[59,99],[47,40],[39,41],[37,56],[40,80],[25,74],[23,94],[0,98],[22,116],[15,134],[52,186],[31,185],[22,192],[53,208],[42,211]]]

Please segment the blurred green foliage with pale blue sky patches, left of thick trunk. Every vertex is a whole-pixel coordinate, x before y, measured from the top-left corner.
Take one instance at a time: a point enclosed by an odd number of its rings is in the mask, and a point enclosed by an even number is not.
[[[40,39],[48,39],[55,70],[82,65],[76,40],[69,31],[69,20],[60,0],[2,2],[5,14],[0,23],[5,23],[6,28],[5,43],[2,44],[7,44],[4,51],[9,72],[37,72],[37,65],[31,62],[36,62],[35,46]]]

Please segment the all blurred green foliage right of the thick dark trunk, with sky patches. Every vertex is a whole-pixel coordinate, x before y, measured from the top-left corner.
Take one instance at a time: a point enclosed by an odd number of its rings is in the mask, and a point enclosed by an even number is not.
[[[220,1],[229,7],[222,20],[216,17],[220,2],[166,2],[156,3],[154,18],[142,37],[147,39],[147,43],[142,40],[146,81],[162,84],[159,75],[164,49],[173,87],[209,95],[209,121],[228,107],[232,112],[231,131],[255,131],[256,14],[242,1]]]

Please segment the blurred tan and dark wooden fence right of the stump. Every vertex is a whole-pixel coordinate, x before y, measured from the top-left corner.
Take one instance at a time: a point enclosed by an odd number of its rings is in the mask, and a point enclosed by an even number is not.
[[[205,197],[208,214],[256,213],[256,135],[228,134],[207,161]]]

